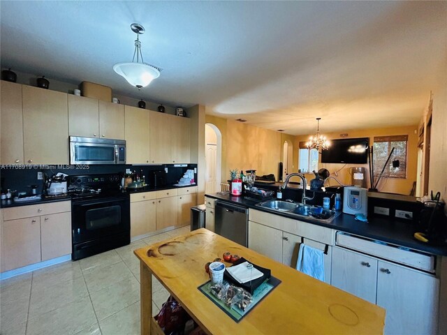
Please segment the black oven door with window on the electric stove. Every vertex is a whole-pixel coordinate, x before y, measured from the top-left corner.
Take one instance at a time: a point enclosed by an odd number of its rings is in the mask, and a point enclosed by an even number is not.
[[[73,246],[112,235],[130,235],[129,198],[72,201],[71,222]]]

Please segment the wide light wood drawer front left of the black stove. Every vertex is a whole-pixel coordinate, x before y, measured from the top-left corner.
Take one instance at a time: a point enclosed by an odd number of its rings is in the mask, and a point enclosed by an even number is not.
[[[3,209],[3,221],[17,218],[30,218],[36,215],[47,215],[71,211],[71,201],[47,202],[45,204],[31,204]]]

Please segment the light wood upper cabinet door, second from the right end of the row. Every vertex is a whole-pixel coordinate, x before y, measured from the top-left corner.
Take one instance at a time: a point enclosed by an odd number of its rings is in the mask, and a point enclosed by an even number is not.
[[[160,112],[149,112],[150,118],[150,161],[151,163],[170,163],[172,161],[171,137],[175,133],[170,121],[175,116]]]

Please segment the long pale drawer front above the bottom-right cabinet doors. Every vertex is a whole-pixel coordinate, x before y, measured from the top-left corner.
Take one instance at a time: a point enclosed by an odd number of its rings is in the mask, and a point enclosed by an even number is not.
[[[409,267],[434,272],[434,255],[404,250],[389,244],[379,244],[369,239],[354,237],[342,232],[337,232],[336,244],[337,246],[344,246],[361,253],[408,265]]]

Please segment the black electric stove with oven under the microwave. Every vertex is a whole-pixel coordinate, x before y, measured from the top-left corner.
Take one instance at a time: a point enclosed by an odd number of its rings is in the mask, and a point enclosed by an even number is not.
[[[71,196],[73,260],[103,253],[131,242],[129,195],[119,174],[68,178]]]

